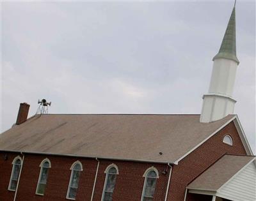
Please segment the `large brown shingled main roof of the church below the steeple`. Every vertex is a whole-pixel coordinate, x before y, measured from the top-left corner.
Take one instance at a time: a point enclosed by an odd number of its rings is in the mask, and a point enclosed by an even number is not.
[[[35,115],[5,131],[0,150],[172,163],[232,117],[200,123],[200,115]]]

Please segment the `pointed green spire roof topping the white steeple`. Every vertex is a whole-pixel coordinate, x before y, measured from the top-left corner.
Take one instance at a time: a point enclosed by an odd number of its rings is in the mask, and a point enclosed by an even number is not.
[[[220,50],[218,54],[213,57],[215,59],[224,58],[232,59],[239,64],[239,61],[236,57],[236,7],[234,6],[230,19],[228,21],[228,26],[222,40]]]

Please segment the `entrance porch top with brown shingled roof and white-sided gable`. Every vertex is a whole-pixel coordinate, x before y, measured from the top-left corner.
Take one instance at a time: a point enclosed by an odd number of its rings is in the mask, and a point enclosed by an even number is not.
[[[225,155],[188,185],[189,193],[256,200],[255,156]]]

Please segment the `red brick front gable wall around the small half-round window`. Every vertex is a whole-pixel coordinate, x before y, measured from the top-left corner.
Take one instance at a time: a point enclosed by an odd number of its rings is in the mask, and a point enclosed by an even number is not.
[[[223,137],[228,133],[233,138],[233,146],[223,144]],[[184,142],[186,143],[186,142]],[[183,201],[185,188],[206,168],[217,161],[223,154],[246,154],[234,123],[229,123],[225,128],[212,136],[195,151],[174,165],[168,200]],[[189,200],[189,199],[187,199]],[[189,200],[190,201],[190,200]]]

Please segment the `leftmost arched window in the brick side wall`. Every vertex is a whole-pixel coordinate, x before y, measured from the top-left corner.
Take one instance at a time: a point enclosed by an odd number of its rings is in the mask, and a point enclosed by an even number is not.
[[[20,156],[17,156],[12,161],[12,174],[11,174],[8,190],[11,190],[11,191],[16,190],[17,182],[20,174],[21,161],[22,159],[20,158]]]

